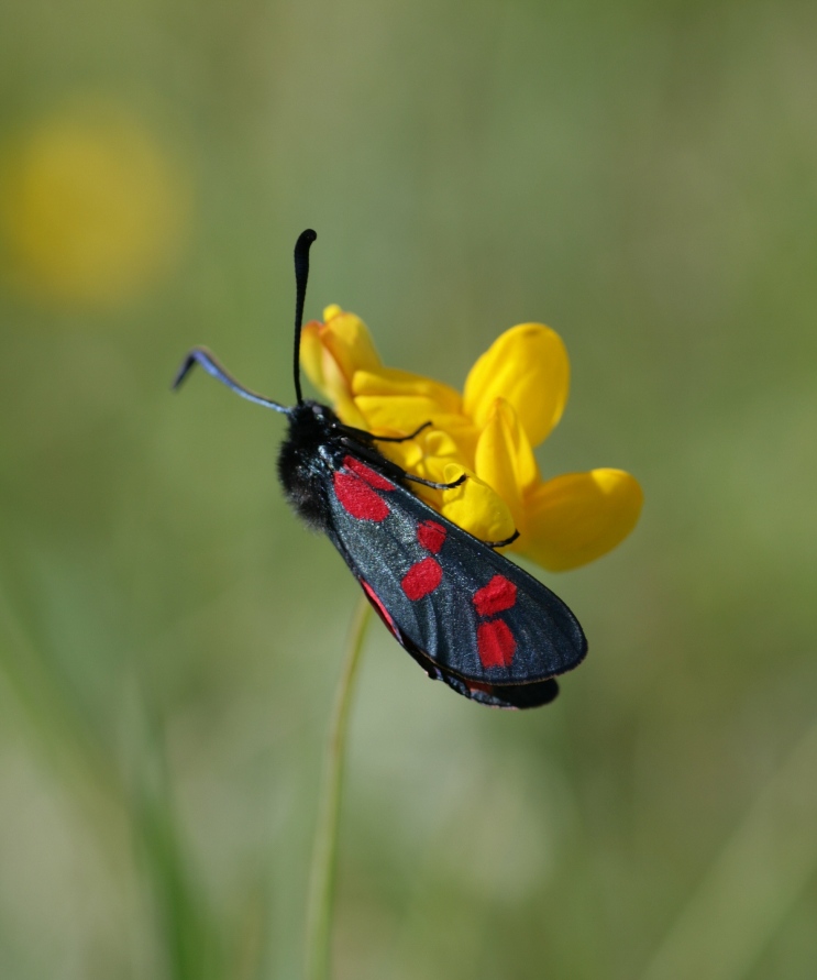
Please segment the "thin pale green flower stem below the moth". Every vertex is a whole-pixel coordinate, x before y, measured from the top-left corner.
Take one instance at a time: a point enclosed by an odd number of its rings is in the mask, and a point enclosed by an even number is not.
[[[361,662],[361,651],[371,612],[372,607],[366,597],[362,595],[349,634],[343,672],[334,696],[327,755],[323,761],[318,825],[312,845],[312,867],[309,876],[306,980],[327,980],[329,977],[329,947],[332,932],[338,827],[343,792],[346,730],[352,691]]]

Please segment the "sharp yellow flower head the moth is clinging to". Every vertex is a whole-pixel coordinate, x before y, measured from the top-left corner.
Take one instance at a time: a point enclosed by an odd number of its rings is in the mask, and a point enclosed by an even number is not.
[[[585,564],[636,526],[642,493],[622,470],[590,470],[543,481],[533,455],[567,400],[570,364],[542,323],[506,330],[472,367],[463,395],[431,378],[385,367],[363,321],[338,306],[303,328],[301,363],[341,419],[379,436],[405,470],[437,483],[465,472],[455,489],[417,492],[484,541],[501,541],[551,571]]]

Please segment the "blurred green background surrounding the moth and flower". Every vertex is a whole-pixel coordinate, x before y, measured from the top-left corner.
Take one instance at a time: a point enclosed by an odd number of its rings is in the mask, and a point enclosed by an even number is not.
[[[572,359],[545,475],[634,535],[544,575],[551,707],[373,626],[336,978],[817,971],[817,8],[4,0],[0,976],[294,978],[355,584],[276,483],[291,247],[386,363]]]

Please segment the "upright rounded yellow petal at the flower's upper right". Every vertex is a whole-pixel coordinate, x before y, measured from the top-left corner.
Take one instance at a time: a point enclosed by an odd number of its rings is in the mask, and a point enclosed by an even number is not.
[[[570,386],[570,362],[561,337],[542,323],[506,330],[471,368],[464,411],[482,428],[497,397],[507,398],[531,445],[562,417]]]

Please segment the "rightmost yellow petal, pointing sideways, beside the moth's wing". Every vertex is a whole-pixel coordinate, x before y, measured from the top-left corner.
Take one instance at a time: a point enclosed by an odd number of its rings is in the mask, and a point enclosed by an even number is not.
[[[552,572],[605,554],[636,527],[643,494],[622,470],[567,473],[526,498],[527,535],[518,550]]]

